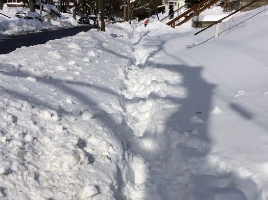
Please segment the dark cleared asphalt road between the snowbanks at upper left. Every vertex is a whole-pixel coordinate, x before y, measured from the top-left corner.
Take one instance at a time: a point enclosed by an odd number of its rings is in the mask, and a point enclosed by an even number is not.
[[[48,40],[60,39],[68,36],[74,36],[80,32],[87,32],[93,25],[76,26],[56,31],[45,31],[40,33],[31,33],[25,35],[5,36],[0,35],[0,54],[6,54],[22,46],[32,46],[44,44]]]

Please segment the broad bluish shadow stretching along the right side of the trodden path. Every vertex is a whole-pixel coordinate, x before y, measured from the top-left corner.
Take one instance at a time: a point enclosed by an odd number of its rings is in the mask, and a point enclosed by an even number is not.
[[[148,38],[150,39],[150,38]],[[172,39],[172,38],[170,38]],[[156,193],[148,193],[146,199],[259,199],[261,192],[257,183],[251,178],[239,177],[235,172],[227,169],[217,173],[218,166],[212,165],[208,159],[212,140],[209,135],[210,114],[212,112],[212,100],[217,85],[207,82],[202,77],[204,67],[188,66],[179,60],[179,56],[170,54],[164,49],[168,38],[158,37],[151,39],[147,48],[156,48],[148,58],[153,58],[159,51],[165,56],[174,59],[176,64],[158,64],[147,59],[140,68],[152,67],[156,69],[167,69],[171,72],[182,75],[180,84],[184,85],[187,96],[178,98],[173,95],[159,97],[149,95],[148,99],[160,99],[164,102],[172,102],[176,105],[174,110],[170,109],[172,115],[164,121],[163,130],[157,130],[159,124],[155,123],[155,129],[148,129],[144,132],[142,139],[154,141],[155,148],[144,148],[134,150],[134,153],[141,154],[152,169],[152,180],[148,185],[153,184]],[[169,62],[170,63],[170,62]],[[163,74],[164,75],[164,74]],[[146,98],[134,98],[131,103],[146,101]],[[165,101],[166,100],[166,101]],[[252,115],[237,105],[231,107],[243,117],[251,119]],[[155,114],[154,114],[155,115]],[[159,123],[161,123],[159,121]]]

